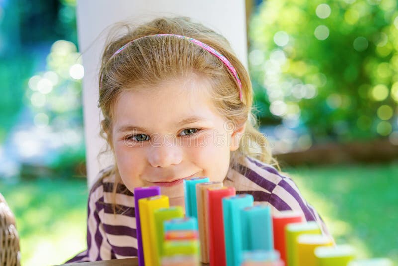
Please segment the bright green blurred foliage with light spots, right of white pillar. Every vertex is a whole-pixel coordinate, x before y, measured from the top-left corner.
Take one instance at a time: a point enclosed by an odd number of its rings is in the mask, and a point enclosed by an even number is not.
[[[396,0],[267,0],[249,35],[264,124],[303,126],[315,143],[397,130]]]

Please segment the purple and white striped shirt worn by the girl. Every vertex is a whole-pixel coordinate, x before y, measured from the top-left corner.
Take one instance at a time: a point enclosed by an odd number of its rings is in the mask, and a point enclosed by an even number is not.
[[[134,194],[120,184],[116,194],[120,211],[113,214],[114,175],[109,175],[111,168],[100,171],[97,176],[100,181],[89,193],[87,250],[66,263],[121,259],[138,254]],[[224,186],[235,187],[237,194],[253,195],[255,202],[268,204],[273,213],[299,211],[306,221],[316,221],[322,233],[330,236],[322,218],[302,197],[293,180],[269,164],[246,156],[244,165],[229,169]]]

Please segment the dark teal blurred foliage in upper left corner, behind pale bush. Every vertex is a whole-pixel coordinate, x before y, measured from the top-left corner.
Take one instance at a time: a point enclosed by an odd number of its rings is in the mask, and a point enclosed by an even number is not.
[[[75,0],[1,1],[0,143],[24,104],[30,75],[40,68],[43,55],[37,48],[57,39],[77,45],[75,6]]]

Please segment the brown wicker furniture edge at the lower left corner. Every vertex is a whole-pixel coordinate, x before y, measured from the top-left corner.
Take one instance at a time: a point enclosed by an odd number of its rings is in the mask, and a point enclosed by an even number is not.
[[[20,266],[19,237],[15,216],[0,193],[0,265]]]

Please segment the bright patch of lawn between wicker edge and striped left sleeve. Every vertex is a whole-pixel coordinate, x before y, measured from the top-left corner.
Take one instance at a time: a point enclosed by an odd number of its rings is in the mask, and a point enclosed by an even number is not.
[[[62,264],[86,249],[85,179],[0,180],[0,192],[16,217],[22,266]]]

